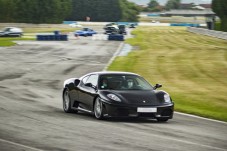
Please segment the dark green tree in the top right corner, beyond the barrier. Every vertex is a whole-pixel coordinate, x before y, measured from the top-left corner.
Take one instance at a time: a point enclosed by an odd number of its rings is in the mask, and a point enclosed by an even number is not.
[[[212,9],[221,20],[221,31],[227,32],[227,3],[226,0],[212,0]]]

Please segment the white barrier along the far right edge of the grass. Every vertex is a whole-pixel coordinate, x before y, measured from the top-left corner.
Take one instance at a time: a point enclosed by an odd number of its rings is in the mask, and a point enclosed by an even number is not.
[[[227,40],[227,32],[209,30],[204,28],[188,27],[188,31],[196,34],[211,36],[219,39]]]

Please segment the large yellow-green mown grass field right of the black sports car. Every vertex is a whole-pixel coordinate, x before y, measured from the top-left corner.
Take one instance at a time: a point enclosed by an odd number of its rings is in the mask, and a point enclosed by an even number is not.
[[[131,71],[163,84],[175,110],[227,121],[227,41],[184,27],[139,27],[127,43],[137,50],[108,70]]]

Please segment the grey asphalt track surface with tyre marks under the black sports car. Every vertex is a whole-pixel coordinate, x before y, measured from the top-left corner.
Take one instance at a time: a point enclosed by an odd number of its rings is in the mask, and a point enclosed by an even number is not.
[[[101,71],[121,42],[82,37],[0,47],[1,151],[224,151],[227,124],[175,114],[96,120],[62,110],[63,81]]]

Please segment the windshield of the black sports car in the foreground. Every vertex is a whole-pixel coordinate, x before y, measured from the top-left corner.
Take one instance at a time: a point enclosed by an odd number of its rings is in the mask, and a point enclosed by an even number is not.
[[[153,87],[144,78],[137,75],[112,74],[99,78],[101,90],[152,90]]]

